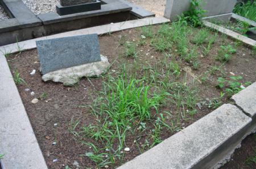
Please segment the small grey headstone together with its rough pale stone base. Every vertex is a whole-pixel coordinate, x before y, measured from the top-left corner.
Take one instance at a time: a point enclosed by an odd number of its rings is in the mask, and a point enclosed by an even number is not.
[[[100,54],[98,35],[36,41],[43,81],[74,85],[82,77],[105,73],[110,64]]]

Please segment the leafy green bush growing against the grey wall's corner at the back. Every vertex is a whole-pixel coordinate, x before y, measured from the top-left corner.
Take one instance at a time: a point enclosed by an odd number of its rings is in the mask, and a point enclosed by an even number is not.
[[[187,20],[192,26],[198,27],[202,25],[201,17],[204,16],[206,12],[200,6],[201,0],[189,0],[191,2],[191,7],[187,12],[184,12],[181,16],[182,19]]]

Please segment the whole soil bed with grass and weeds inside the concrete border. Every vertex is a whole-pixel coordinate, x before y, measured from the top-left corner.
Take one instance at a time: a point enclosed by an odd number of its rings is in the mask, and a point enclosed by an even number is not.
[[[49,168],[120,166],[256,81],[255,48],[184,22],[99,41],[112,66],[74,86],[43,82],[36,49],[6,52]]]

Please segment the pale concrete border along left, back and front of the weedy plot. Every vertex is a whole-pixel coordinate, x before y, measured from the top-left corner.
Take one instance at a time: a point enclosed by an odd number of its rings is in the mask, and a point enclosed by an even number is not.
[[[23,50],[28,50],[36,48],[36,40],[89,33],[101,35],[167,22],[170,20],[161,17],[130,20],[59,33],[18,44],[23,47]],[[11,53],[18,52],[17,44],[0,47],[0,50],[4,49]],[[0,80],[0,153],[5,154],[1,160],[2,168],[47,168],[6,58],[1,53]],[[250,112],[256,105],[255,86],[256,82],[238,93],[237,97],[234,96],[233,99],[239,107],[231,104],[222,105],[119,168],[198,168],[218,167],[220,163],[225,163],[234,149],[240,146],[242,139],[251,132],[255,132],[253,119],[256,116],[255,112]],[[250,102],[245,102],[246,98],[249,98]]]

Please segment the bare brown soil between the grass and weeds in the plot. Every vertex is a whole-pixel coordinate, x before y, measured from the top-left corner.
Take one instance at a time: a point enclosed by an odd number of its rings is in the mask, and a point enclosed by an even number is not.
[[[159,27],[160,26],[153,26],[155,32]],[[196,31],[198,31],[198,29],[195,29],[195,32]],[[115,76],[118,72],[122,72],[122,65],[124,63],[126,63],[128,67],[127,71],[133,73],[134,69],[138,69],[138,71],[141,70],[143,65],[149,64],[154,66],[163,61],[165,53],[154,50],[150,45],[150,39],[146,39],[144,45],[137,46],[137,64],[135,64],[133,58],[123,56],[124,47],[119,43],[121,37],[125,37],[126,41],[137,43],[141,40],[141,35],[141,28],[135,28],[112,33],[111,35],[100,36],[101,54],[108,57],[110,64],[113,64],[109,73],[100,78],[83,78],[73,87],[65,87],[60,83],[42,81],[42,75],[39,72],[40,63],[38,52],[36,49],[28,50],[21,54],[13,54],[7,59],[12,73],[14,73],[15,70],[18,71],[20,77],[26,81],[26,84],[18,85],[17,87],[49,168],[64,168],[67,165],[71,168],[75,168],[73,166],[74,160],[79,162],[81,168],[97,168],[92,160],[88,157],[81,156],[93,150],[73,136],[70,132],[70,124],[71,121],[77,119],[80,120],[81,125],[92,124],[95,121],[89,108],[82,108],[80,105],[92,105],[93,100],[97,98],[99,92],[102,90],[102,83],[106,81],[108,75]],[[193,33],[193,35],[196,34]],[[199,49],[199,69],[192,69],[192,72],[187,73],[184,70],[181,72],[183,78],[187,77],[187,83],[189,85],[192,86],[194,82],[197,86],[199,90],[198,94],[201,99],[200,102],[203,107],[201,109],[197,107],[196,115],[187,115],[185,119],[180,119],[176,124],[177,130],[175,132],[161,131],[161,140],[172,136],[176,132],[179,132],[179,130],[213,111],[212,108],[208,107],[208,104],[204,103],[208,103],[209,100],[220,96],[222,90],[216,88],[217,77],[220,77],[220,74],[208,75],[209,80],[205,83],[197,82],[195,77],[201,77],[210,66],[222,65],[219,61],[214,60],[214,56],[216,56],[218,49],[220,49],[220,45],[234,45],[234,43],[232,39],[226,38],[223,40],[222,36],[218,35],[207,57],[203,57]],[[190,45],[193,47],[195,44],[191,43]],[[168,53],[171,55],[170,61],[180,60],[179,54],[177,54],[175,50],[171,50],[171,52]],[[180,64],[182,68],[190,66],[184,61]],[[253,51],[246,46],[239,45],[237,52],[232,54],[232,59],[222,65],[222,70],[227,77],[230,76],[230,73],[241,75],[243,77],[242,83],[247,81],[255,82],[255,65],[256,59]],[[33,69],[36,69],[36,74],[30,75]],[[26,91],[26,88],[30,88],[30,91]],[[35,92],[34,96],[31,96],[31,91]],[[48,96],[47,98],[40,99],[43,93],[47,93]],[[34,98],[39,98],[39,103],[32,104],[31,100]],[[222,102],[232,103],[227,96],[224,96]],[[174,119],[178,116],[175,111],[175,105],[172,103],[164,105],[159,111],[170,111]],[[57,126],[54,126],[54,124],[57,124]],[[110,166],[110,168],[120,166],[122,163],[143,153],[138,150],[137,145],[133,142],[136,137],[137,136],[129,136],[129,138],[127,138],[126,146],[130,147],[131,151],[125,153],[125,158],[122,162],[117,161],[117,163]],[[141,145],[144,143],[144,137],[145,136],[142,136],[141,142],[139,142]],[[84,137],[84,141],[93,142],[92,138],[89,137]],[[56,142],[56,145],[52,145],[53,142]],[[102,146],[95,141],[94,143],[97,146]],[[53,163],[53,159],[58,159],[58,161]]]

